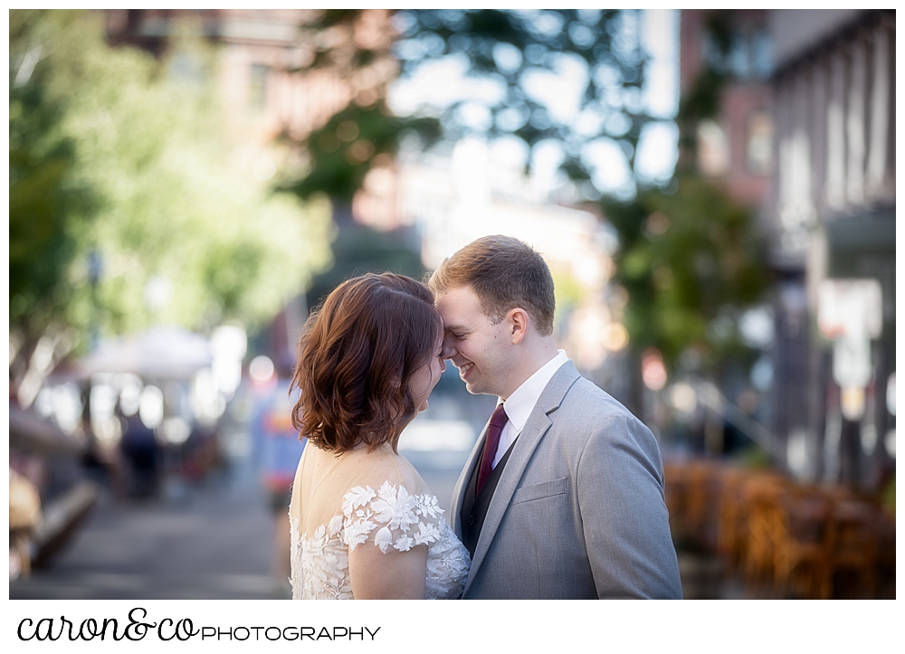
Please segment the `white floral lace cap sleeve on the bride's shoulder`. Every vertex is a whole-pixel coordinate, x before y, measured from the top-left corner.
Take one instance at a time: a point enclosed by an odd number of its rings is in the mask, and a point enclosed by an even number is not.
[[[342,503],[343,541],[349,550],[371,541],[386,554],[390,547],[407,552],[416,545],[440,539],[443,509],[437,498],[423,493],[411,495],[405,486],[385,481],[375,492],[356,486]]]

